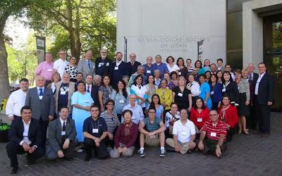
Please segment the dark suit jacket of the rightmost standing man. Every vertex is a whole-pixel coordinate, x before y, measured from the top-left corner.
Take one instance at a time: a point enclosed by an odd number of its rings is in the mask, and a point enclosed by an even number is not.
[[[259,105],[266,105],[268,101],[274,102],[274,79],[269,73],[265,73],[264,77],[262,77],[262,80],[259,82],[257,103],[259,103]]]

